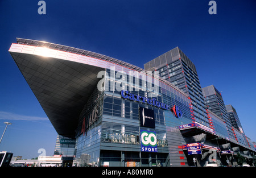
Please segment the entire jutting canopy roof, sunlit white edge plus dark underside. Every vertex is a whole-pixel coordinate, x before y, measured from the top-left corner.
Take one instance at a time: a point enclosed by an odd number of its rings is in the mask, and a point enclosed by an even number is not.
[[[122,71],[147,71],[121,60],[65,45],[17,38],[9,49],[19,70],[58,134],[75,137],[79,115],[97,87],[98,72],[110,67]],[[157,76],[163,84],[188,97]]]

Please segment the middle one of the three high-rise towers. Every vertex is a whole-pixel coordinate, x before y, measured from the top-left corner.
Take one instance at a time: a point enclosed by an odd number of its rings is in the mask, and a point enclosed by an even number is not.
[[[207,109],[225,121],[230,138],[235,139],[221,92],[219,92],[213,85],[202,88],[202,90]]]

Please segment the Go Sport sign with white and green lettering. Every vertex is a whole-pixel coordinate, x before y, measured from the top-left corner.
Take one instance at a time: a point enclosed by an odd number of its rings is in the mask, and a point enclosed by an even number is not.
[[[141,151],[158,152],[156,143],[157,139],[155,131],[141,130]]]

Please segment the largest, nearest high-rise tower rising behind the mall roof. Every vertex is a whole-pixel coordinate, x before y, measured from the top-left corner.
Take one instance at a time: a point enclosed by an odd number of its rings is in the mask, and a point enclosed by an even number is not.
[[[144,69],[146,71],[158,71],[160,77],[187,93],[193,108],[192,118],[196,122],[211,127],[196,67],[179,47],[171,49],[144,64]]]

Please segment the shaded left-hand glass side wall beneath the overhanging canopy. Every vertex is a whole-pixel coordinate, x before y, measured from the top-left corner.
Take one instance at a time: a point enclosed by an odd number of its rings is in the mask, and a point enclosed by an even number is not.
[[[98,165],[100,158],[103,92],[97,88],[89,97],[80,114],[76,131],[76,164],[79,166]]]

